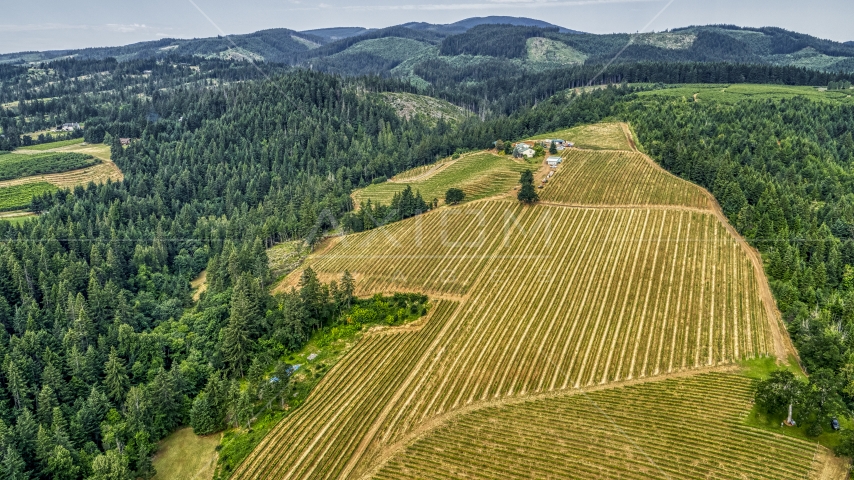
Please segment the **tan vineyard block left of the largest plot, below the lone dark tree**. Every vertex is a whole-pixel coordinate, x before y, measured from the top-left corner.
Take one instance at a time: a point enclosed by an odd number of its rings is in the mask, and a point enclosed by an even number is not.
[[[514,228],[517,220],[544,226],[551,221],[549,212],[510,202],[441,209],[348,235],[313,268],[334,274],[349,269],[361,294],[396,289],[464,294],[489,259],[512,254],[504,239],[524,235]]]

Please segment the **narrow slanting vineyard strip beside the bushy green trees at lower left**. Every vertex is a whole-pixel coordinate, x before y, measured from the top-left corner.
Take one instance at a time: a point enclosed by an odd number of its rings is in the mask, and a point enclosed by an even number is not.
[[[277,425],[235,478],[333,478],[414,370],[457,303],[440,301],[417,332],[366,335],[312,391],[306,405]]]

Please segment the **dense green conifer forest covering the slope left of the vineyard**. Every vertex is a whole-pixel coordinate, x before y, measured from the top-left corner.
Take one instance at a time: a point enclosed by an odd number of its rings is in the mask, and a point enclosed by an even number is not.
[[[306,278],[270,297],[265,248],[320,238],[352,188],[436,155],[438,127],[356,87],[303,71],[116,105],[101,125],[125,180],[42,196],[37,220],[0,225],[4,475],[148,477],[155,442],[178,425],[241,424],[247,399],[280,401],[234,397],[232,380],[284,379],[276,360],[352,288]],[[123,148],[124,125],[140,130]],[[419,200],[401,195],[401,213],[426,209]],[[194,304],[188,281],[205,268]],[[210,418],[193,408],[202,391]]]

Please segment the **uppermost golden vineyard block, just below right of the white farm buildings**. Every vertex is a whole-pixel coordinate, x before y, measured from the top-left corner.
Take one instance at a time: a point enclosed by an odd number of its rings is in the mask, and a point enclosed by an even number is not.
[[[641,153],[570,150],[540,193],[544,202],[580,205],[681,205],[709,208],[697,186]]]

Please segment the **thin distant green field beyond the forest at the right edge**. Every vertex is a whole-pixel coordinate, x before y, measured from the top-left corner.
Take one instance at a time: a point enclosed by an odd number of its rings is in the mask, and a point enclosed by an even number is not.
[[[672,97],[685,101],[721,102],[734,104],[741,100],[788,100],[805,97],[810,100],[837,101],[854,104],[854,90],[823,91],[815,87],[790,87],[785,85],[708,85],[687,84],[674,88],[641,92],[643,97]]]

